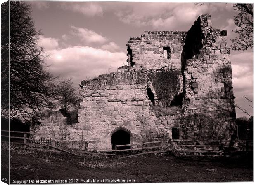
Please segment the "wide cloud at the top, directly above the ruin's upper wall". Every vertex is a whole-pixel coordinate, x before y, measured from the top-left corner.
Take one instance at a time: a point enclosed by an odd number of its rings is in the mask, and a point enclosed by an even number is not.
[[[176,29],[180,25],[193,23],[209,7],[208,4],[199,6],[193,3],[134,3],[121,7],[116,16],[123,23],[136,26],[152,25],[158,29]]]

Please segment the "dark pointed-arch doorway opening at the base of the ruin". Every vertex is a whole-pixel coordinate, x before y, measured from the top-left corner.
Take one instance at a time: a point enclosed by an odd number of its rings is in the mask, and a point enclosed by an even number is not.
[[[130,149],[130,146],[120,146],[115,147],[116,145],[129,145],[130,144],[130,134],[124,130],[118,130],[114,132],[111,136],[112,149],[124,150]]]

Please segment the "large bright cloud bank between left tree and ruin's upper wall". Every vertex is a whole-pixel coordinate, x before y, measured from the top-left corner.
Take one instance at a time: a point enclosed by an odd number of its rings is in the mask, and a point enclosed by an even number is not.
[[[88,46],[74,46],[48,51],[47,59],[50,70],[56,75],[71,76],[76,86],[88,77],[95,77],[108,72],[111,66],[115,71],[126,63],[126,53],[110,52]]]

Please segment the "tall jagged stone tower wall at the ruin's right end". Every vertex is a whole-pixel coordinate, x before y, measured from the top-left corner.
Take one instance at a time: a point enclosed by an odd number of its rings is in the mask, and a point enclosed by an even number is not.
[[[198,32],[198,27],[201,33],[196,38],[194,32]],[[230,139],[234,130],[235,102],[226,31],[213,29],[211,16],[205,14],[188,31],[187,38],[184,112],[201,115],[202,121],[197,122],[197,127],[201,128],[196,130],[201,133],[201,139]]]

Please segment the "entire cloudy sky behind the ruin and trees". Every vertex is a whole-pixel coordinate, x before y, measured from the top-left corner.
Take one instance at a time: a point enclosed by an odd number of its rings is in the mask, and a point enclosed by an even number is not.
[[[32,17],[41,30],[40,45],[50,56],[53,74],[83,79],[114,72],[127,65],[126,42],[145,30],[187,31],[201,14],[212,15],[214,28],[236,37],[232,4],[168,2],[31,2]],[[252,115],[243,95],[253,98],[253,51],[231,51],[235,102]],[[246,116],[237,110],[237,117]]]

